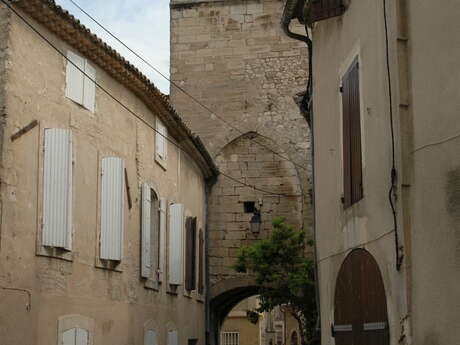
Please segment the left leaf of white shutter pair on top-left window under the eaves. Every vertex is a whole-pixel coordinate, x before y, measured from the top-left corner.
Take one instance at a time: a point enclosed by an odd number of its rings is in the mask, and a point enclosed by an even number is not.
[[[65,95],[72,101],[83,104],[84,74],[82,71],[85,70],[85,59],[71,51],[67,52],[67,59],[70,61],[67,61]]]

